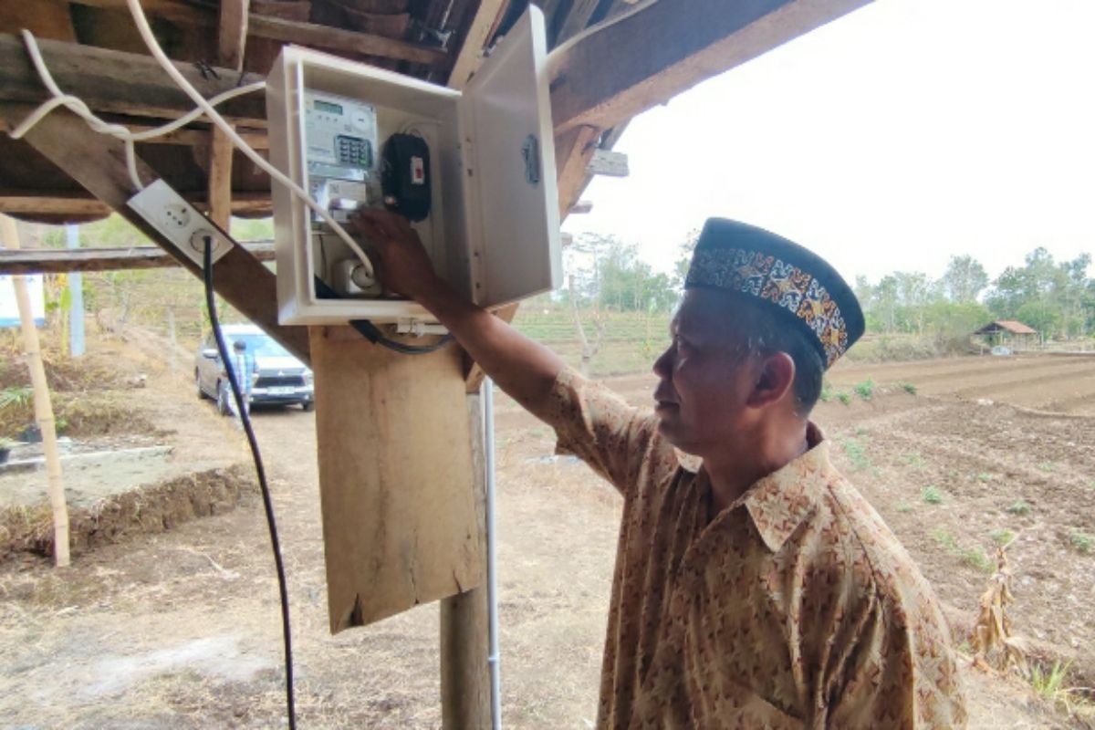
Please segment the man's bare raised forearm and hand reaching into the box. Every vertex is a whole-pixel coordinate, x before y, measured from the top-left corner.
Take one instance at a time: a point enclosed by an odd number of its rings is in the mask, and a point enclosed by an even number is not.
[[[353,224],[371,250],[381,283],[425,306],[503,391],[543,418],[552,384],[563,369],[560,357],[468,301],[438,277],[406,219],[365,209]]]

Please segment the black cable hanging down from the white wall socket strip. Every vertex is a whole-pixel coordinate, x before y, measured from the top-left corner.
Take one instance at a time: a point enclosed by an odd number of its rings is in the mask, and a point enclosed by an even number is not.
[[[263,494],[263,508],[266,510],[266,526],[269,528],[270,546],[274,548],[274,567],[277,570],[277,588],[281,595],[281,638],[285,642],[285,696],[286,711],[289,715],[289,730],[297,730],[297,710],[292,694],[292,638],[289,633],[289,587],[285,579],[285,565],[281,561],[281,545],[277,538],[277,523],[274,521],[274,501],[270,499],[270,489],[266,484],[266,470],[263,467],[263,456],[258,453],[258,440],[255,439],[255,431],[251,427],[251,414],[244,407],[243,392],[235,378],[232,361],[228,357],[228,347],[224,346],[224,336],[220,332],[220,322],[217,320],[217,302],[212,288],[212,239],[206,236],[205,253],[201,256],[203,274],[206,285],[206,306],[209,309],[209,322],[212,325],[212,334],[217,340],[217,351],[220,352],[220,360],[224,363],[228,374],[228,383],[232,389],[232,397],[235,398],[235,409],[243,424],[243,431],[247,434],[247,444],[251,447],[251,456],[255,462],[255,472],[258,474],[258,488]]]

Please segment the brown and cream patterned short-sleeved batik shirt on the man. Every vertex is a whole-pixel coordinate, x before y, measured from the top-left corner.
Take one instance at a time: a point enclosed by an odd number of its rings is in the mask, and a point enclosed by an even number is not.
[[[566,370],[551,425],[624,497],[598,728],[954,728],[966,712],[931,587],[809,449],[713,514],[639,415]]]

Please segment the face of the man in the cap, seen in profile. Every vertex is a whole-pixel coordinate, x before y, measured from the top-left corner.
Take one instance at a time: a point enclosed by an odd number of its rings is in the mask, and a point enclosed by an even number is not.
[[[659,430],[678,449],[703,456],[742,443],[756,358],[744,356],[728,298],[690,289],[670,325],[672,341],[655,363]]]

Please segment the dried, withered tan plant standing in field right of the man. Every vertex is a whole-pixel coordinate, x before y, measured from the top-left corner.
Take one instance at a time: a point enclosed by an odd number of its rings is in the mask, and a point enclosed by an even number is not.
[[[1012,571],[1006,549],[1015,542],[996,548],[996,571],[989,579],[989,587],[981,595],[981,613],[973,625],[970,644],[973,647],[973,665],[990,672],[1006,672],[1014,667],[1027,676],[1027,645],[1023,637],[1012,635],[1007,605],[1015,602],[1011,591]]]

